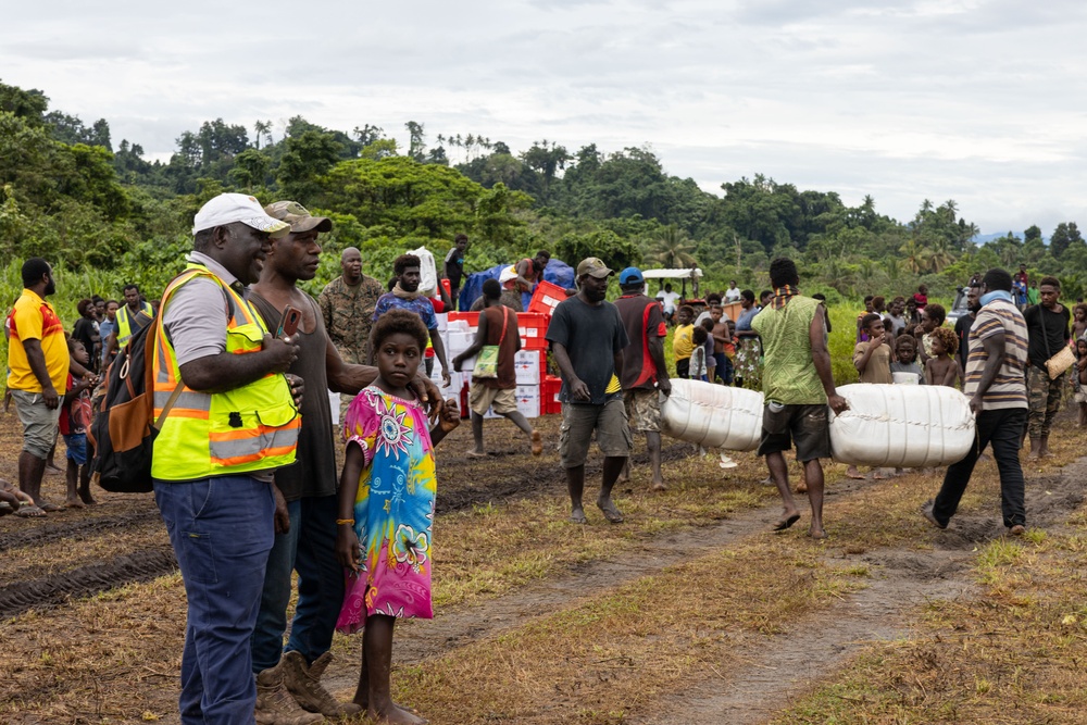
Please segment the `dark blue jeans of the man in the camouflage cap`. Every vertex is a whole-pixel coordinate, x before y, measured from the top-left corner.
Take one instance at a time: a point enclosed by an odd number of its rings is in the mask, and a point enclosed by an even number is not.
[[[290,530],[277,534],[267,570],[261,610],[253,630],[253,672],[274,667],[284,651],[290,574],[298,572],[298,603],[286,651],[307,663],[328,651],[343,603],[343,567],[336,561],[337,497],[308,497],[287,504]]]

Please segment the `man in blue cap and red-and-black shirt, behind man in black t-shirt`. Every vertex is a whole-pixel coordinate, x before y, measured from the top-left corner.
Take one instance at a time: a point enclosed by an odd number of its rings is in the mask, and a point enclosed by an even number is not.
[[[615,300],[630,345],[623,349],[623,400],[630,427],[646,434],[649,460],[653,466],[653,490],[663,491],[661,474],[661,393],[672,392],[664,365],[664,337],[667,329],[657,300],[644,293],[646,279],[638,267],[627,267],[619,276],[623,296]],[[629,461],[629,460],[628,460]],[[629,475],[629,462],[623,471]]]

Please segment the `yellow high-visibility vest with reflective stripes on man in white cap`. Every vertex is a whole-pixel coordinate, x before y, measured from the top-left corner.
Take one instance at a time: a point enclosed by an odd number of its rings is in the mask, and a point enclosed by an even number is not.
[[[162,295],[164,313],[170,297],[195,277],[214,280],[227,307],[226,351],[259,352],[267,333],[261,316],[207,267],[189,264]],[[159,325],[154,347],[154,415],[162,412],[180,371],[174,347]],[[287,378],[270,373],[225,392],[183,388],[154,440],[151,476],[161,480],[196,480],[209,476],[268,471],[295,462],[302,418],[295,408]]]

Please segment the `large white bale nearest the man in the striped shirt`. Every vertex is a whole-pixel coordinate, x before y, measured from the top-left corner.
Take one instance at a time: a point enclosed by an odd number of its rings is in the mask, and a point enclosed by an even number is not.
[[[970,400],[940,385],[844,385],[849,410],[830,418],[834,460],[913,468],[950,465],[974,445]]]

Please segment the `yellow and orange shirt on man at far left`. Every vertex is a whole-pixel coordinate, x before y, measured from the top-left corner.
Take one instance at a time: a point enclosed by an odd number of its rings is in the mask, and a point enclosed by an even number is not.
[[[52,380],[53,389],[64,392],[67,379],[68,353],[67,341],[64,339],[64,325],[49,302],[38,297],[29,289],[15,301],[15,309],[8,315],[11,328],[11,340],[8,343],[8,387],[12,390],[41,392],[41,383],[30,370],[26,359],[24,340],[40,340],[41,352],[46,358],[46,371]]]

